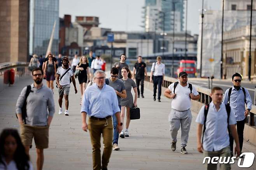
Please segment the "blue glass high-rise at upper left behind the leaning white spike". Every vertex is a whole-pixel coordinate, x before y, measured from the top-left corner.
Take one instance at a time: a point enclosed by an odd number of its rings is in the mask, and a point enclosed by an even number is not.
[[[54,22],[51,53],[59,50],[59,0],[30,0],[30,54],[45,55]]]

